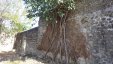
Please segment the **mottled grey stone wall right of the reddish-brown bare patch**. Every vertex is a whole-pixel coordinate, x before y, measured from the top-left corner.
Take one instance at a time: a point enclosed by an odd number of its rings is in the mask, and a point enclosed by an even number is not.
[[[83,0],[70,17],[80,25],[85,35],[89,58],[80,64],[113,64],[113,1]]]

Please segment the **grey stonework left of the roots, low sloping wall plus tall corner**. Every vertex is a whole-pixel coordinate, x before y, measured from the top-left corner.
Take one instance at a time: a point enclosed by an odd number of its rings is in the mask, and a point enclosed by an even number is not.
[[[39,27],[32,28],[30,30],[17,33],[15,35],[14,49],[22,56],[30,54],[42,57],[44,54],[38,50],[37,47],[40,45],[43,33],[45,32],[45,22],[40,19]],[[42,55],[42,56],[41,56]]]

